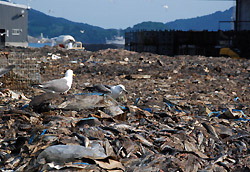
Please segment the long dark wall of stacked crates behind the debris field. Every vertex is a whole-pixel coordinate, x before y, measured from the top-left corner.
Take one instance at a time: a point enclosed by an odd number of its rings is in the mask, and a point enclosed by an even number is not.
[[[136,31],[125,33],[125,49],[136,52],[218,57],[230,48],[250,58],[250,30],[241,31]],[[227,55],[227,54],[226,54]]]

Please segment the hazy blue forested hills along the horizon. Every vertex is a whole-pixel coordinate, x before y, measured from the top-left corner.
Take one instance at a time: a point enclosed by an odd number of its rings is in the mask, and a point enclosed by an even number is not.
[[[41,33],[44,37],[53,38],[59,35],[72,35],[77,41],[83,43],[103,44],[107,40],[115,39],[117,36],[124,36],[125,32],[136,30],[209,30],[215,31],[232,29],[231,23],[221,23],[220,21],[231,21],[233,7],[223,11],[215,12],[210,15],[180,19],[168,23],[142,22],[122,29],[104,29],[86,23],[77,23],[46,15],[37,10],[29,10],[29,35],[39,37]]]

